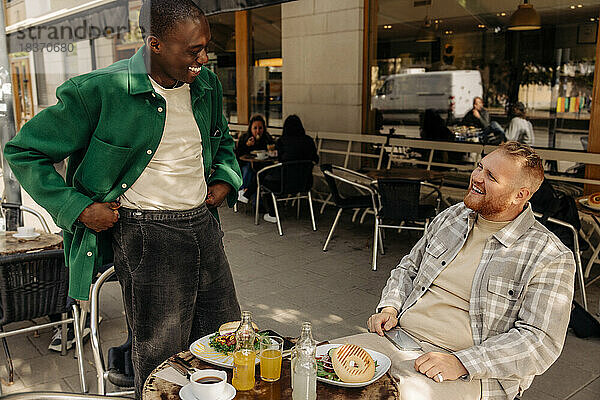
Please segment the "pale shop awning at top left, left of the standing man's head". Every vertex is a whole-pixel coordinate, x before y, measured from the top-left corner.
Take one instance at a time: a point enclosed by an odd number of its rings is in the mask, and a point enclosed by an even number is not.
[[[129,31],[127,0],[93,0],[6,27],[9,53],[61,51],[61,44]]]

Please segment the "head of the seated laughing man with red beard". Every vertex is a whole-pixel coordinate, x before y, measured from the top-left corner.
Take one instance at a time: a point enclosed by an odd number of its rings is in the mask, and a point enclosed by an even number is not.
[[[529,195],[523,175],[519,162],[502,150],[493,151],[471,173],[465,205],[490,221],[514,219]]]

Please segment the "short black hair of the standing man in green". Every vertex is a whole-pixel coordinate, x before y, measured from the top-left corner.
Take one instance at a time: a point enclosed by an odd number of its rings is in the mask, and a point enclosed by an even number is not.
[[[163,39],[179,22],[204,18],[204,11],[192,0],[144,0],[140,9],[142,37],[148,35]]]

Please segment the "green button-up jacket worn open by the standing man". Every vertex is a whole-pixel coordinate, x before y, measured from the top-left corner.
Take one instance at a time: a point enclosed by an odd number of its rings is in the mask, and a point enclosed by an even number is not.
[[[77,218],[92,202],[114,201],[133,185],[162,138],[166,103],[148,79],[143,51],[66,81],[56,91],[58,103],[25,124],[4,149],[23,188],[64,231],[69,295],[76,299],[88,299],[97,267],[113,259],[110,232],[96,233]],[[221,83],[203,68],[190,92],[204,178],[235,189],[227,198],[232,207],[241,173],[222,114]],[[67,157],[65,182],[53,164]]]

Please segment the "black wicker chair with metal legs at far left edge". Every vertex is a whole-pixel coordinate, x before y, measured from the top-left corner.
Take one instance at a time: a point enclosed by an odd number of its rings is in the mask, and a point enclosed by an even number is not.
[[[67,354],[67,324],[72,323],[75,332],[81,391],[87,391],[83,373],[79,309],[76,305],[72,307],[73,316],[67,318],[68,272],[63,250],[0,257],[0,338],[2,338],[6,353],[10,382],[14,381],[14,368],[6,337],[61,325],[61,354],[64,356]],[[15,329],[10,332],[4,331],[4,326],[9,323],[28,321],[51,314],[62,314],[62,320]]]

